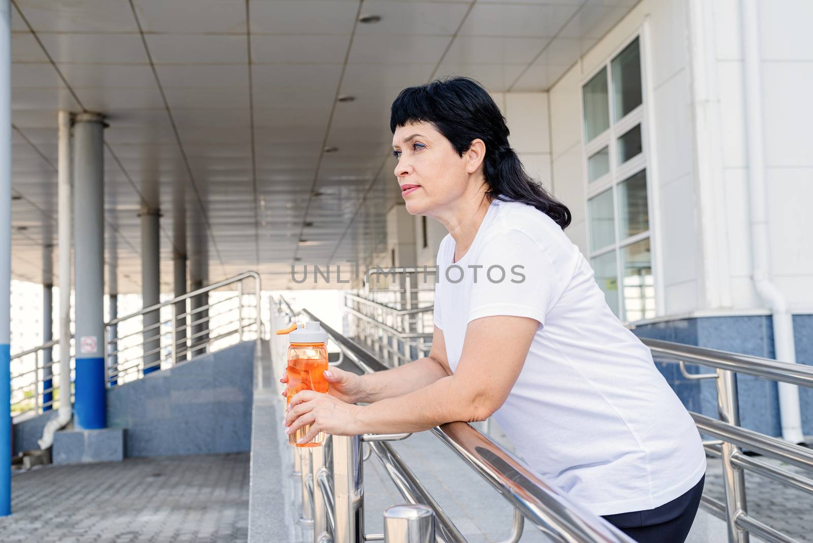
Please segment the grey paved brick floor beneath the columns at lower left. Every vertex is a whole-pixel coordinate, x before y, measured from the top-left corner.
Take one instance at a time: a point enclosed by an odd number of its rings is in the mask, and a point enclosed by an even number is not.
[[[246,541],[249,454],[127,458],[37,467],[11,480],[0,541]]]

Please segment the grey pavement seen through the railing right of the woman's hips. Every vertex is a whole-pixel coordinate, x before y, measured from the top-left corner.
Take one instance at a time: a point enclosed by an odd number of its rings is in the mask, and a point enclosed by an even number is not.
[[[754,457],[774,467],[809,475],[798,467],[778,460]],[[720,459],[708,458],[706,470],[706,496],[724,501],[723,471]],[[778,481],[757,475],[746,470],[746,507],[748,515],[766,523],[771,528],[784,532],[797,541],[813,543],[813,496],[801,490],[791,489]],[[753,540],[753,538],[752,538]]]

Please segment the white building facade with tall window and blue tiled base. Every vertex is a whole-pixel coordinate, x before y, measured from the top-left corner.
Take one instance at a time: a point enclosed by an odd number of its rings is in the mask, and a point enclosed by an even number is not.
[[[547,92],[493,94],[641,337],[813,363],[811,17],[802,0],[642,0]],[[402,234],[405,214],[389,211],[372,266],[433,265],[445,229],[414,217]],[[716,414],[713,383],[659,367],[689,409]],[[743,426],[813,434],[813,393],[738,384]]]

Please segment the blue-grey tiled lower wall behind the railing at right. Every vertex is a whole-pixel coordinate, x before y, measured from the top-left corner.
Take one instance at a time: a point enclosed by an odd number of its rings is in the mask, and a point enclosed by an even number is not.
[[[813,363],[813,315],[794,315],[798,362]],[[645,324],[633,330],[639,337],[676,341],[734,353],[773,358],[773,328],[770,315],[698,317],[665,323]],[[676,364],[656,363],[677,395],[691,411],[716,416],[713,380],[691,381],[680,375]],[[689,371],[711,369],[689,366]],[[775,382],[737,374],[741,424],[771,436],[780,436],[779,397]],[[806,435],[813,435],[813,391],[802,389],[802,423]]]

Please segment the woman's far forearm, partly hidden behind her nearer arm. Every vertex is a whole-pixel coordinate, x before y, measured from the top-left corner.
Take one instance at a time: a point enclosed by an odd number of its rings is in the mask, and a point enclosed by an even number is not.
[[[363,393],[359,402],[379,402],[422,389],[448,376],[446,368],[434,358],[419,358],[387,371],[376,371],[361,377]]]

